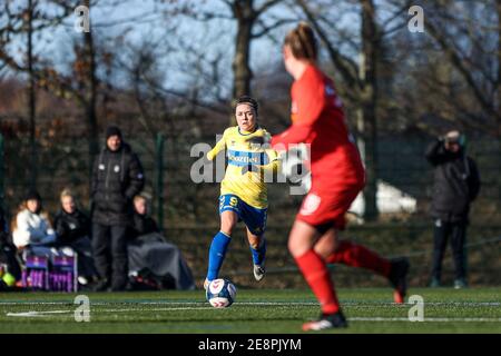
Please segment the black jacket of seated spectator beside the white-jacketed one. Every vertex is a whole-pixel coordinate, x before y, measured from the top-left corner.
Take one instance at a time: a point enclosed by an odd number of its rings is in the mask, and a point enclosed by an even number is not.
[[[53,219],[53,227],[58,245],[69,245],[86,236],[90,238],[90,219],[78,209],[73,214],[61,209]]]

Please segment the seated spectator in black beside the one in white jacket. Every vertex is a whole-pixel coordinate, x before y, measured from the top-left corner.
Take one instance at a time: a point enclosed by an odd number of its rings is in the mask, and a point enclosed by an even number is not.
[[[87,285],[97,280],[94,267],[92,247],[90,245],[90,219],[76,204],[75,195],[63,189],[60,195],[61,208],[55,218],[56,244],[70,247],[78,254],[78,283]]]

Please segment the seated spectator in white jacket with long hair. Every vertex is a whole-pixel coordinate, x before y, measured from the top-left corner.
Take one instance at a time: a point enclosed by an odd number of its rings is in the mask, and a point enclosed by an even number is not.
[[[12,240],[19,251],[30,251],[37,256],[58,256],[55,248],[56,233],[52,229],[48,214],[42,211],[41,197],[36,190],[30,190],[19,207],[19,212],[12,220]]]

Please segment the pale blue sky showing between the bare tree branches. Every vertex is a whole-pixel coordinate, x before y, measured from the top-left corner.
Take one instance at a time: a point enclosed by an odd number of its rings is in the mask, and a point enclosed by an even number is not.
[[[259,6],[265,0],[256,0]],[[27,0],[13,0],[14,4],[26,3]],[[43,3],[46,1],[41,1]],[[114,6],[114,3],[118,3]],[[175,18],[167,17],[161,12],[163,9],[171,8],[171,4],[159,4],[155,0],[101,0],[98,6],[91,10],[91,22],[94,27],[94,38],[96,43],[109,47],[117,53],[127,53],[130,47],[139,46],[143,42],[155,43],[156,55],[160,61],[168,80],[165,86],[170,89],[183,89],[193,85],[194,80],[199,80],[193,75],[196,63],[195,56],[198,52],[205,53],[207,60],[213,60],[218,56],[218,71],[223,73],[222,90],[227,95],[232,87],[232,60],[234,53],[234,37],[236,23],[233,20],[212,20],[203,22],[194,20],[186,16]],[[173,2],[173,1],[163,1]],[[311,4],[322,3],[324,0],[312,2]],[[377,1],[384,3],[384,1]],[[46,2],[47,3],[47,2]],[[197,12],[218,12],[220,14],[230,14],[229,9],[219,0],[181,0],[178,3],[196,4]],[[42,6],[43,10],[50,10]],[[383,8],[383,7],[381,7]],[[341,4],[328,7],[328,17],[336,19],[337,23],[346,29],[347,39],[357,42],[358,14],[353,4]],[[327,14],[327,13],[325,13]],[[272,9],[267,16],[276,18],[301,18],[298,11],[294,11],[288,6],[277,6]],[[0,16],[1,20],[1,16]],[[53,62],[59,70],[66,70],[72,59],[72,42],[81,38],[73,29],[76,17],[69,17],[63,26],[56,29],[46,30],[36,37],[37,53]],[[284,24],[273,31],[273,36],[278,41],[282,40],[286,31],[294,24]],[[122,37],[122,42],[116,39]],[[176,50],[176,43],[183,41],[193,46],[193,51]],[[356,58],[356,51],[347,43],[341,41],[341,50],[351,53]],[[26,46],[24,38],[17,38],[10,47],[10,52],[21,60],[21,55]],[[174,50],[168,48],[173,46]],[[126,56],[124,56],[126,58]],[[272,39],[264,37],[252,42],[252,62],[250,66],[255,72],[261,76],[273,73],[276,65],[281,62],[281,46]],[[117,82],[120,77],[116,78]]]

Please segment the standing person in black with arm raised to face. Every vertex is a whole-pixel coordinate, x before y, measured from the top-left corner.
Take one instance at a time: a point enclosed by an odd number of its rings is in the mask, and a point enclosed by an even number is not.
[[[465,152],[464,135],[454,130],[432,142],[426,159],[434,167],[431,216],[434,219],[434,248],[431,286],[441,285],[442,259],[451,237],[455,266],[455,288],[468,286],[464,243],[471,202],[480,191],[477,165]]]

